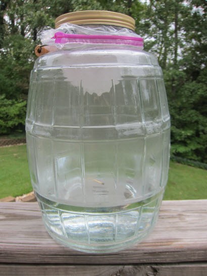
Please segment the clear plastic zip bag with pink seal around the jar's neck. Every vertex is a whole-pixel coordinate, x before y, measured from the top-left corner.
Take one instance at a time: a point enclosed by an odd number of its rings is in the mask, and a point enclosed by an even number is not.
[[[143,38],[134,31],[118,26],[77,26],[65,23],[58,29],[42,32],[41,42],[44,45],[53,45],[58,48],[67,47],[67,44],[128,44],[143,48]]]

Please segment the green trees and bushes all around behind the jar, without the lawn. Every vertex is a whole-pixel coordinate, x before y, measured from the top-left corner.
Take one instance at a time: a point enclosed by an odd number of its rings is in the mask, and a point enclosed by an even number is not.
[[[207,5],[202,0],[2,0],[0,95],[14,100],[11,106],[23,104],[40,32],[54,28],[56,17],[81,10],[114,11],[135,19],[145,50],[157,56],[164,71],[172,119],[172,153],[206,162]],[[2,119],[6,123],[1,123],[1,133],[22,127],[24,123],[18,118],[23,115],[14,119],[13,114],[5,115],[1,110],[0,118],[7,116],[7,121]]]

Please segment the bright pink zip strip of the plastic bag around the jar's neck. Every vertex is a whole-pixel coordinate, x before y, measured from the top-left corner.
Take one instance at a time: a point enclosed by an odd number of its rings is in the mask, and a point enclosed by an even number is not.
[[[123,35],[86,35],[55,33],[55,43],[104,43],[104,44],[128,44],[143,46],[143,38]]]

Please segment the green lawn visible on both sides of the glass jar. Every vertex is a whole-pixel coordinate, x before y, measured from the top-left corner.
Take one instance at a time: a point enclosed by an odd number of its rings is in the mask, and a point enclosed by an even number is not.
[[[32,190],[26,145],[0,147],[0,198]],[[165,200],[206,199],[207,171],[170,162]]]

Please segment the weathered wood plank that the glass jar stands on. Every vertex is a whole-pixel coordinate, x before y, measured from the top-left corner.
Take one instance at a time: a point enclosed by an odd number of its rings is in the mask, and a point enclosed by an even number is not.
[[[142,243],[110,254],[87,254],[56,243],[34,203],[0,203],[0,263],[140,264],[207,261],[207,200],[164,201]]]

